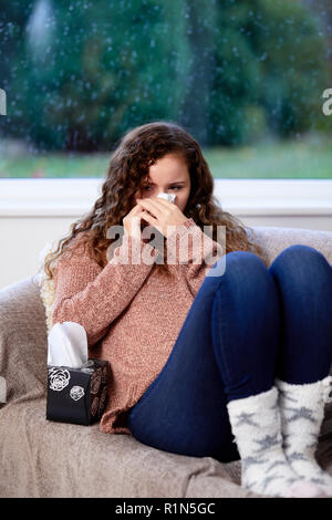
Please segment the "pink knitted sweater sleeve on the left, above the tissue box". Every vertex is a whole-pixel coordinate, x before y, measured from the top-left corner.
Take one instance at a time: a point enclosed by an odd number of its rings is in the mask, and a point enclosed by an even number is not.
[[[53,324],[80,323],[89,346],[95,344],[139,291],[154,266],[155,253],[148,243],[124,235],[104,268],[89,253],[61,258],[55,273]]]

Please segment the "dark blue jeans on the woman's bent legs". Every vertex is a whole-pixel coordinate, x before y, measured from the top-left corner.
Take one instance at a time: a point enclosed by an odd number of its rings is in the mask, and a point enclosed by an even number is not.
[[[329,375],[332,268],[302,245],[284,249],[269,269],[248,251],[225,260],[224,274],[204,279],[166,364],[129,409],[127,426],[145,445],[229,462],[240,458],[229,401],[266,392],[276,377],[304,384]]]

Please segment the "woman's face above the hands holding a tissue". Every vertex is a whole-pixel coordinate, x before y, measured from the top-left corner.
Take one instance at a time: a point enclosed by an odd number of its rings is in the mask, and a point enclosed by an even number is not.
[[[184,212],[190,194],[190,176],[181,156],[168,154],[152,165],[148,169],[148,180],[142,191],[135,193],[135,199],[156,198],[162,193],[175,194],[174,204]]]

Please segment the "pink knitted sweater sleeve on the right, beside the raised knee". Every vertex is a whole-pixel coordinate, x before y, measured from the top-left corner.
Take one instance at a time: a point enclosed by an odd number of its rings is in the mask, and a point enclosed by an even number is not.
[[[221,229],[221,241],[222,239]],[[193,218],[187,218],[184,223],[176,226],[168,235],[168,249],[170,249],[173,263],[181,266],[194,297],[201,285],[201,273],[206,274],[214,263],[225,254],[225,248],[204,232]]]

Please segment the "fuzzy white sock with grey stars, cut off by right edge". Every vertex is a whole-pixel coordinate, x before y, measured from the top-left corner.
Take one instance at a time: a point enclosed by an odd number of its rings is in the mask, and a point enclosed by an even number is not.
[[[332,496],[332,477],[321,469],[314,457],[330,383],[331,376],[303,385],[276,379],[287,459],[300,477],[315,482]]]

